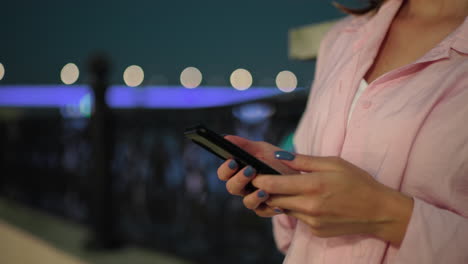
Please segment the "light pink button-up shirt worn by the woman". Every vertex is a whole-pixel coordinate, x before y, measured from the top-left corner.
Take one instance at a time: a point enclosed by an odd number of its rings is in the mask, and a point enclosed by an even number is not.
[[[388,0],[375,16],[348,17],[327,34],[295,146],[302,154],[341,156],[414,197],[403,243],[318,238],[279,215],[274,233],[285,263],[468,263],[468,18],[419,60],[370,83],[347,125],[401,3]]]

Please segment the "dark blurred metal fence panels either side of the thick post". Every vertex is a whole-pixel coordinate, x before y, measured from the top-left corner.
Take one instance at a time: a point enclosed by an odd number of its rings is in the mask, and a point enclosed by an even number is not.
[[[280,263],[270,219],[246,210],[216,177],[221,161],[183,137],[185,127],[283,144],[305,95],[284,95],[254,107],[255,122],[237,106],[192,110],[114,110],[112,225],[115,238],[199,263]],[[261,104],[258,104],[261,103]],[[0,194],[70,220],[91,224],[93,146],[88,118],[54,109],[1,109]],[[234,114],[233,114],[234,113]]]

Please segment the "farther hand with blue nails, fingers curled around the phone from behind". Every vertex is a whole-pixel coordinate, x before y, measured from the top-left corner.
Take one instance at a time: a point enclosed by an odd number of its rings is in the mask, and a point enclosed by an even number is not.
[[[262,160],[282,174],[297,174],[297,171],[290,169],[284,164],[274,159],[274,152],[281,150],[279,147],[267,142],[251,141],[238,136],[226,136],[225,139],[236,144],[251,155]],[[245,207],[253,210],[258,216],[271,217],[282,213],[279,208],[270,208],[264,202],[268,200],[269,194],[263,190],[248,192],[245,190],[257,172],[251,166],[239,168],[239,164],[229,159],[218,168],[218,178],[226,182],[226,189],[232,195],[242,196]]]

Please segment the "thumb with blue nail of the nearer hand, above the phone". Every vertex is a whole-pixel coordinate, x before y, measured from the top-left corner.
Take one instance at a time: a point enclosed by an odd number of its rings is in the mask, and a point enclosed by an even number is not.
[[[336,171],[339,166],[332,157],[313,157],[287,151],[276,151],[275,159],[280,160],[291,169],[302,172]]]

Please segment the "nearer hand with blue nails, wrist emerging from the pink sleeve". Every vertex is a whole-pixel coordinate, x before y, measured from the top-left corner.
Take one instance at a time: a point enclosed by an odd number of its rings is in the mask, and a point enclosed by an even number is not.
[[[377,182],[338,157],[277,151],[275,157],[296,175],[259,175],[253,185],[270,194],[266,203],[309,225],[319,237],[366,234],[399,246],[413,199]]]

